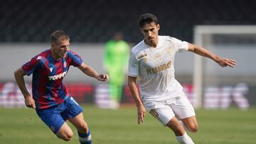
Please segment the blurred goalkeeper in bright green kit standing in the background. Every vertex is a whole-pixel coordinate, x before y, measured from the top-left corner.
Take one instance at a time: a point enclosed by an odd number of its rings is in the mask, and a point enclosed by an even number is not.
[[[103,66],[110,76],[111,107],[117,109],[122,97],[129,60],[129,45],[122,39],[122,33],[115,33],[112,40],[105,44]]]

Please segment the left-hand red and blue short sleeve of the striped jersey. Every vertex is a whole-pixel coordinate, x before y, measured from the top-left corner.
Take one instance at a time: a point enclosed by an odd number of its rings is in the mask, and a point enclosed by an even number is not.
[[[23,66],[22,69],[25,72],[26,75],[31,75],[33,71],[36,69],[39,61],[42,59],[41,56],[36,56],[33,57],[29,62],[26,62]]]

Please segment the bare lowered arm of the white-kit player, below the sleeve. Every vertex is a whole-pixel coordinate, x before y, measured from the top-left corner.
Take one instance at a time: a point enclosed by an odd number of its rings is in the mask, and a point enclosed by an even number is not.
[[[137,113],[138,113],[138,123],[140,124],[141,122],[144,123],[146,109],[144,108],[142,99],[140,99],[139,91],[138,91],[137,84],[136,84],[136,79],[137,79],[137,77],[128,76],[128,86],[132,93],[132,97],[134,98],[134,101],[136,102]]]

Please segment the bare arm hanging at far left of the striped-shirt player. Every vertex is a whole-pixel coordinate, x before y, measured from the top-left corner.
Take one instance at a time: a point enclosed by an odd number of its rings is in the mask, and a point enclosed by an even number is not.
[[[22,67],[18,68],[18,70],[14,72],[14,77],[24,96],[26,106],[28,108],[36,108],[35,101],[31,97],[31,94],[29,94],[28,89],[26,89],[24,75],[26,75],[26,73],[23,71]]]

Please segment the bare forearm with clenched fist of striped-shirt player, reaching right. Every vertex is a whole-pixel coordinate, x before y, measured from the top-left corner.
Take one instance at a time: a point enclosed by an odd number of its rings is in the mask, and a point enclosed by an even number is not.
[[[78,67],[83,73],[87,74],[90,77],[94,77],[95,79],[105,82],[109,78],[107,74],[98,74],[96,70],[94,70],[92,67],[85,65],[84,62]]]

